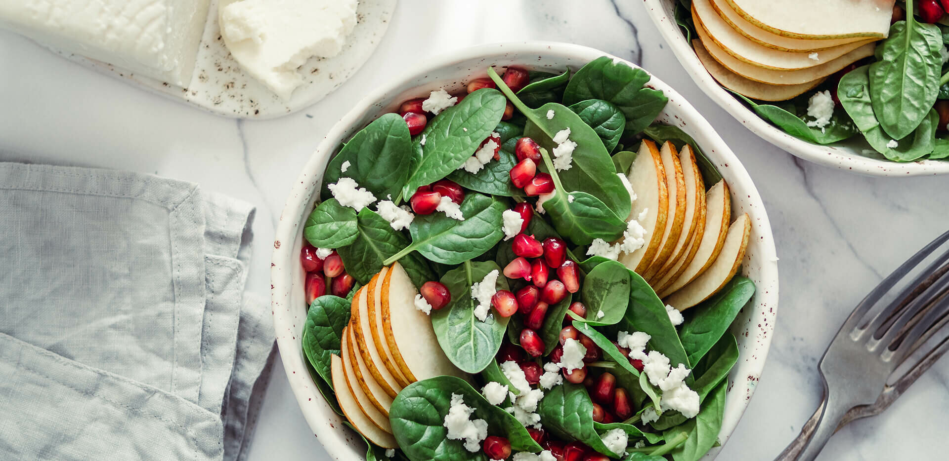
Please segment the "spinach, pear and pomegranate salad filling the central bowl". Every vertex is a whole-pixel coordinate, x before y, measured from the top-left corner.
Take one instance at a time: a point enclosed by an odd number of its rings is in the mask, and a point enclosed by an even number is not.
[[[486,73],[330,159],[301,253],[313,382],[368,460],[697,460],[749,216],[642,69]]]

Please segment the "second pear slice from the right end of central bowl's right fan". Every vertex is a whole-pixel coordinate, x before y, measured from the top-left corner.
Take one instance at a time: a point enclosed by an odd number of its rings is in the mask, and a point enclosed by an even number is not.
[[[692,262],[684,268],[679,277],[668,286],[660,286],[656,292],[660,298],[688,285],[704,272],[718,257],[722,245],[725,244],[725,235],[728,234],[728,223],[732,220],[732,197],[728,184],[720,180],[705,194],[705,230],[702,239],[698,242],[698,249]],[[691,251],[691,249],[690,249]]]

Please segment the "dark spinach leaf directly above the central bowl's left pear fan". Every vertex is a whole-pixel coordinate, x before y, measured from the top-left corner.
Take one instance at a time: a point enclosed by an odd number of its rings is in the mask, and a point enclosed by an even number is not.
[[[405,234],[393,230],[388,221],[368,207],[363,208],[357,215],[357,230],[359,233],[356,241],[340,247],[337,252],[343,258],[346,272],[365,285],[385,266],[382,262],[409,245],[409,241]],[[432,269],[419,253],[403,255],[400,263],[416,286],[435,279]]]

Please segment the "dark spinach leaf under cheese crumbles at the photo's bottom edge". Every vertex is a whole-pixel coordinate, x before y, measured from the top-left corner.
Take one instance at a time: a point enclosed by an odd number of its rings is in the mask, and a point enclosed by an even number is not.
[[[456,377],[436,377],[409,384],[389,409],[392,433],[405,455],[414,461],[485,461],[483,452],[465,450],[463,441],[450,440],[444,426],[452,394],[464,397],[474,412],[472,419],[488,422],[488,433],[506,437],[514,452],[540,452],[541,447],[514,416],[495,407],[480,393]]]

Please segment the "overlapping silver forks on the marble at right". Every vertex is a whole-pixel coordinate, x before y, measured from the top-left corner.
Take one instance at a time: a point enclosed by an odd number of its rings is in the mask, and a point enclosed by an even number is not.
[[[812,461],[850,421],[879,415],[949,350],[926,344],[949,323],[949,231],[909,258],[853,309],[820,362],[824,400],[774,461]],[[926,348],[921,346],[926,344]],[[924,353],[892,385],[914,352]]]

